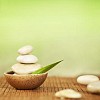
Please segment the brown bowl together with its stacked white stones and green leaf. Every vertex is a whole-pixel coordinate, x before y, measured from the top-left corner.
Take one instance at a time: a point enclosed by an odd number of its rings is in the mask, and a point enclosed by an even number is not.
[[[20,55],[16,59],[17,63],[11,67],[12,71],[4,73],[7,82],[16,89],[38,88],[46,80],[48,71],[62,62],[60,60],[43,67],[38,63],[38,58],[31,54],[32,51],[31,45],[20,48]]]

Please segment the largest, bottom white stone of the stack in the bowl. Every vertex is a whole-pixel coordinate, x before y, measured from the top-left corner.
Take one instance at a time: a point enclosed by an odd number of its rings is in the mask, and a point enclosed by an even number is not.
[[[15,64],[12,67],[12,71],[14,71],[16,74],[28,74],[32,73],[39,68],[41,68],[40,64]]]

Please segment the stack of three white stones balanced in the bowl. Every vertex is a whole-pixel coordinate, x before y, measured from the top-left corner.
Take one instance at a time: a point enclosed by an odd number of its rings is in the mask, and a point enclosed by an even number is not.
[[[37,63],[38,58],[31,54],[32,51],[33,47],[30,45],[24,46],[18,50],[20,54],[16,59],[18,63],[12,66],[12,70],[16,74],[30,74],[41,68],[41,65]]]

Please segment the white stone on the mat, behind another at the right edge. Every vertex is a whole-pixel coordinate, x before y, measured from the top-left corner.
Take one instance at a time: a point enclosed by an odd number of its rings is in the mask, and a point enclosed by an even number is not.
[[[87,85],[91,82],[95,82],[98,80],[99,78],[95,75],[82,75],[77,78],[77,82],[84,85]]]

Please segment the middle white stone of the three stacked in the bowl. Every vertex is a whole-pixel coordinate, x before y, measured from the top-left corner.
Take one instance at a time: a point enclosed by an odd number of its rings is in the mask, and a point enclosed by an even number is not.
[[[19,63],[36,63],[38,58],[34,55],[20,55],[16,59]]]

